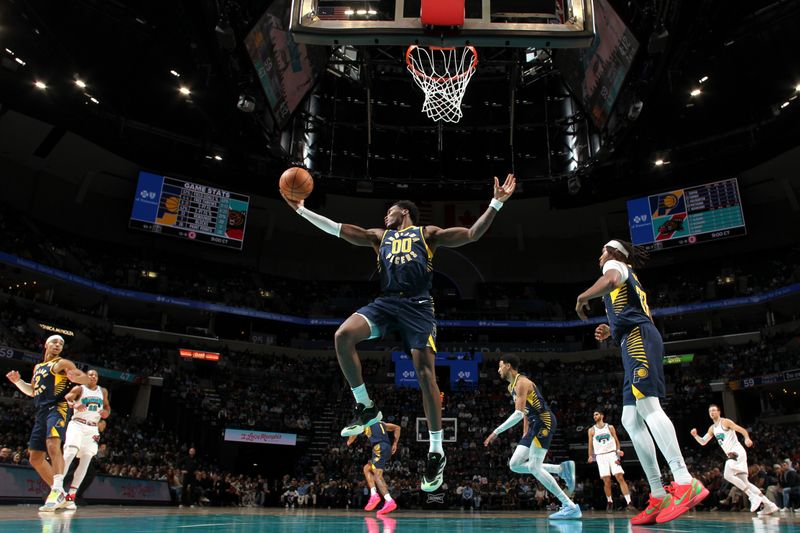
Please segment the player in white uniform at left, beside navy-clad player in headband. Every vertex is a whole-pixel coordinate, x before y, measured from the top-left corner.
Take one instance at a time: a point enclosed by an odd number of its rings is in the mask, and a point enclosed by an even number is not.
[[[97,371],[89,370],[86,374],[89,376],[89,384],[73,387],[65,397],[67,405],[72,409],[72,418],[64,439],[64,472],[69,471],[75,457],[80,459],[67,494],[67,509],[77,508],[75,494],[86,476],[92,457],[97,455],[97,443],[100,440],[97,424],[111,414],[108,391],[97,385]]]

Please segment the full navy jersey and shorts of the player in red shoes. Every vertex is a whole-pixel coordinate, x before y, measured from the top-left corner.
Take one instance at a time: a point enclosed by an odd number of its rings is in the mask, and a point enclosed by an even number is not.
[[[650,318],[647,294],[628,265],[606,261],[603,274],[612,269],[620,273],[621,285],[603,296],[603,303],[611,334],[622,349],[622,405],[636,405],[648,396],[664,398],[664,342]]]

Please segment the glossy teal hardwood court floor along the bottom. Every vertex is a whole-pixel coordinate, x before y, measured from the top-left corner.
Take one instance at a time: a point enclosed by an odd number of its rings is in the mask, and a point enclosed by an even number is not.
[[[343,510],[90,506],[39,513],[36,507],[0,507],[8,533],[783,533],[800,531],[800,513],[759,518],[750,513],[696,513],[659,526],[631,526],[630,515],[589,511],[581,520],[551,522],[541,512],[395,511],[387,518]]]

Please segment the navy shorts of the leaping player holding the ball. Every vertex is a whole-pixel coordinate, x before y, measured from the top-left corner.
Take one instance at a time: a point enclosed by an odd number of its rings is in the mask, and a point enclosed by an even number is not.
[[[409,354],[411,350],[424,350],[427,347],[436,351],[436,317],[431,296],[381,296],[356,313],[364,316],[373,326],[370,338],[396,330]],[[374,328],[379,332],[375,332]]]

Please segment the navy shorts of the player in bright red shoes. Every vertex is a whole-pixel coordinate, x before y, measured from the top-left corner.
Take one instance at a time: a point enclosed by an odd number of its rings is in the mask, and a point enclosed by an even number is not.
[[[636,405],[636,400],[666,396],[664,384],[664,342],[650,323],[631,329],[620,343],[622,348],[622,405]]]

